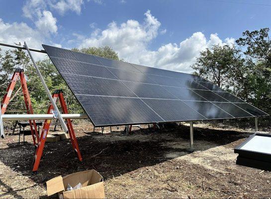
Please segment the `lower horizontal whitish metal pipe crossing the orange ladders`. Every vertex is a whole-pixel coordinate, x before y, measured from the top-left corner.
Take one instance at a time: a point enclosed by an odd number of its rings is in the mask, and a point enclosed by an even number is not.
[[[61,114],[63,119],[84,119],[88,118],[85,113]],[[57,119],[53,114],[3,114],[2,120],[29,120],[29,119]]]

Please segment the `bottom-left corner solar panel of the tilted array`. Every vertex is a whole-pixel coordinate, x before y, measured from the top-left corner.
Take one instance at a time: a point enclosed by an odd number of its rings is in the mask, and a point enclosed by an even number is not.
[[[77,98],[96,126],[164,121],[140,99],[100,96]]]

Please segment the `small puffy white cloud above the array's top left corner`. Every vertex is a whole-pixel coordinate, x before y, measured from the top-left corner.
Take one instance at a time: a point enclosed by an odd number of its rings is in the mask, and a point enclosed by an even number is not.
[[[57,19],[47,10],[44,10],[42,16],[35,22],[38,30],[45,35],[57,32],[58,28],[56,23]]]

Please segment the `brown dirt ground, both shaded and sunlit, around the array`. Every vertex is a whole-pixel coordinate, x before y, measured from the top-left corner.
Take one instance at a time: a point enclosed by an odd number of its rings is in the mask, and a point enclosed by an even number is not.
[[[74,126],[83,164],[69,140],[46,143],[37,175],[32,175],[34,147],[18,135],[0,140],[0,198],[47,198],[46,181],[58,175],[95,169],[104,177],[107,198],[270,198],[271,172],[235,164],[234,147],[252,132],[196,124],[194,151],[189,126],[166,129],[123,127],[112,133],[89,122]],[[57,198],[53,196],[51,198]]]

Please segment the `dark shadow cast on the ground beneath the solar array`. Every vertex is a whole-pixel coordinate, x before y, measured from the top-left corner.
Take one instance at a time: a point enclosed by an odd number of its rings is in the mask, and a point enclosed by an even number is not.
[[[140,129],[133,131],[132,135],[128,135],[128,137],[137,135],[142,136],[140,139],[117,141],[112,139],[113,141],[110,141],[114,136],[126,137],[126,135],[119,131],[113,131],[112,135],[103,135],[104,137],[100,134],[97,135],[97,132],[85,133],[85,135],[78,137],[83,164],[78,161],[73,152],[70,140],[46,143],[37,175],[32,175],[34,147],[30,143],[25,145],[12,143],[9,144],[8,148],[0,149],[0,160],[12,170],[29,177],[37,184],[44,185],[47,180],[55,176],[64,176],[89,169],[95,169],[104,177],[104,180],[107,180],[141,167],[165,162],[171,159],[165,156],[168,151],[190,153],[188,150],[188,126],[180,125],[173,129],[162,129],[156,132],[149,129]],[[194,140],[212,142],[217,146],[234,142],[249,135],[250,133],[229,130],[194,128]],[[100,138],[96,139],[97,136],[100,136]],[[149,137],[149,139],[145,140],[146,137]],[[104,141],[103,138],[108,141]],[[174,142],[180,139],[187,142],[187,149],[173,149],[165,145],[165,142]],[[211,148],[211,145],[209,148]],[[2,186],[5,187],[5,185]],[[6,187],[6,189],[11,188]],[[14,197],[20,198],[16,195]]]

